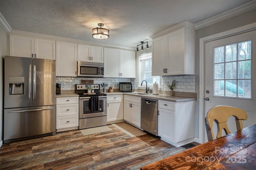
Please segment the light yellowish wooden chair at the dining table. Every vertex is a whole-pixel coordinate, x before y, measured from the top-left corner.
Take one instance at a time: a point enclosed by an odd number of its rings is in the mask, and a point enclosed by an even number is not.
[[[205,121],[208,141],[214,139],[212,131],[213,121],[217,123],[218,128],[216,138],[222,136],[222,129],[224,129],[226,135],[230,133],[227,125],[227,121],[230,116],[234,116],[236,118],[236,129],[243,129],[242,120],[247,119],[247,113],[242,109],[231,106],[215,106],[207,112]]]

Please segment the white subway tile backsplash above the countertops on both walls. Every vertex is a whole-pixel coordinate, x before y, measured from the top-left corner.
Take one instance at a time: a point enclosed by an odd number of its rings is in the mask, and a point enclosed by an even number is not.
[[[178,81],[178,85],[174,88],[176,92],[196,92],[196,76],[195,75],[182,75],[182,76],[161,76],[161,83],[159,88],[164,86],[165,91],[170,91],[165,82],[172,80]],[[75,90],[75,84],[80,84],[81,80],[94,80],[94,84],[108,83],[108,86],[114,84],[115,89],[119,89],[119,82],[132,82],[132,87],[138,89],[140,84],[138,78],[86,78],[86,77],[56,77],[56,82],[61,83],[61,90]],[[66,88],[64,88],[66,84]],[[187,86],[187,89],[185,88]],[[102,87],[100,87],[102,89]]]

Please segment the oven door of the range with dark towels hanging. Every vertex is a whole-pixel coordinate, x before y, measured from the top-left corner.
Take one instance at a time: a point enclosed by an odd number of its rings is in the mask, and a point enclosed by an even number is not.
[[[92,96],[79,99],[79,119],[107,115],[106,96]]]

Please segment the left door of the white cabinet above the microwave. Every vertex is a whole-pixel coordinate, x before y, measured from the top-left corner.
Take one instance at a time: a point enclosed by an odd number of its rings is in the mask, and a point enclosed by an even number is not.
[[[77,45],[77,60],[78,61],[91,61],[91,46],[90,45]]]

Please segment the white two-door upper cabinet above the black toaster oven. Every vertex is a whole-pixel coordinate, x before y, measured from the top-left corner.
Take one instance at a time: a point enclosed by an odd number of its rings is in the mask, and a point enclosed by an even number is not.
[[[104,48],[104,77],[135,78],[135,51]]]

